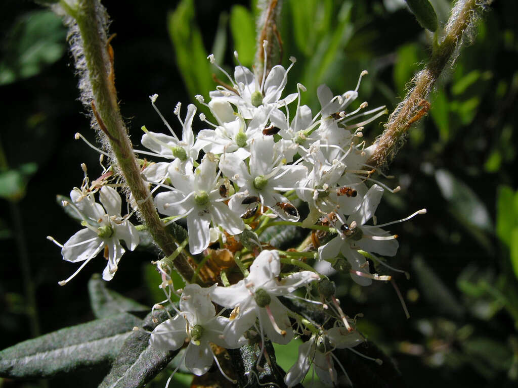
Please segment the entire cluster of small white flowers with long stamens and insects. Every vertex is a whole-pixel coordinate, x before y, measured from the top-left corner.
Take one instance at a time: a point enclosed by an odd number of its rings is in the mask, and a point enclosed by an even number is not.
[[[213,56],[209,59],[214,63]],[[295,59],[291,62],[293,66]],[[154,186],[152,192],[160,190],[154,196],[157,210],[172,221],[186,218],[192,255],[207,256],[209,245],[219,242],[236,262],[238,256],[243,259],[242,279],[233,285],[222,276],[226,287],[186,286],[179,308],[171,302],[177,314],[151,334],[151,344],[162,350],[176,350],[188,343],[184,362],[196,375],[204,374],[212,360],[217,362],[210,343],[237,348],[254,336],[260,336],[263,345],[265,337],[287,344],[294,336],[305,336],[309,339],[300,346],[298,360],[286,374],[286,384],[302,381],[311,365],[323,382],[334,384],[337,372],[332,350],[352,348],[363,337],[341,310],[334,287],[324,274],[290,257],[298,253],[314,257],[315,267],[327,263],[326,271],[329,263],[336,267],[340,262],[340,267],[349,270],[353,280],[363,286],[372,279],[390,279],[371,274],[366,260],[375,258],[374,253],[394,256],[398,242],[396,235],[381,229],[390,223],[375,225],[374,214],[385,186],[367,186],[375,170],[367,165],[371,147],[362,141],[363,126],[386,110],[365,111],[366,102],[349,109],[358,96],[364,71],[354,90],[338,96],[321,85],[317,91],[321,109],[313,115],[308,106],[300,105],[303,85],[297,85],[297,93],[282,98],[290,68],[275,66],[268,74],[254,74],[239,65],[234,78],[225,73],[230,84],[221,82],[217,91],[210,93],[210,102],[196,96],[215,119],[211,123],[200,114],[210,128],[197,136],[192,129],[194,105],[188,106],[183,120],[180,103],[175,109],[182,126],[180,139],[156,108],[157,95],[151,96],[152,106],[170,130],[170,135],[165,135],[142,127],[142,145],[151,151],[138,151],[166,160],[142,163],[142,176]],[[96,191],[104,210],[94,201]],[[110,280],[124,252],[119,241],[124,240],[133,250],[138,244],[136,229],[127,217],[121,217],[121,199],[109,186],[88,188],[83,184],[72,191],[71,200],[86,228],[62,246],[63,258],[85,260],[86,264],[104,249],[108,265],[103,278]],[[304,214],[303,221],[300,214]],[[367,225],[371,219],[374,225]],[[261,232],[272,225],[313,230],[310,249],[284,252],[267,246],[261,241]],[[239,252],[229,248],[227,240],[240,242]],[[282,273],[281,263],[290,260],[305,270]],[[250,265],[248,270],[246,265]],[[165,280],[161,287],[170,301],[174,288],[162,265],[159,270]],[[311,292],[310,285],[316,286],[313,289],[318,289],[319,295]],[[300,287],[306,287],[307,298],[319,303],[333,319],[317,324],[286,307],[283,300],[297,297],[293,292]],[[218,314],[214,304],[221,306]]]

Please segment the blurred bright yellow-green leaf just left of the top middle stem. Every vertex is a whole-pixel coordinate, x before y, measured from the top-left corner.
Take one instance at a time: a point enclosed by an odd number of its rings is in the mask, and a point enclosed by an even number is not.
[[[243,66],[252,66],[255,56],[255,23],[247,8],[242,5],[232,7],[230,29],[239,61]]]

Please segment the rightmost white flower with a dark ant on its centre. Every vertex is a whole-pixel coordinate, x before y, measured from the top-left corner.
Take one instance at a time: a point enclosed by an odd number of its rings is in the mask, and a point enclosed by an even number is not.
[[[373,185],[367,191],[357,210],[347,218],[341,226],[337,226],[339,234],[327,244],[319,247],[321,260],[332,260],[339,253],[351,264],[351,277],[362,286],[372,283],[369,277],[359,276],[357,273],[369,274],[369,265],[365,257],[358,253],[358,249],[367,252],[376,252],[383,256],[396,255],[399,243],[396,236],[376,226],[365,225],[372,218],[381,201],[383,188]]]

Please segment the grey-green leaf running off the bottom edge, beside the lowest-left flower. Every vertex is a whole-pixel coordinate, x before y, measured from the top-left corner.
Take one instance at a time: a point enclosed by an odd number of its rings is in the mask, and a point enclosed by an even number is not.
[[[142,329],[153,331],[168,316],[165,311],[150,313],[142,324]],[[113,362],[109,374],[99,388],[137,388],[145,385],[173,359],[178,351],[160,351],[149,345],[149,334],[133,332],[122,345],[117,359]]]

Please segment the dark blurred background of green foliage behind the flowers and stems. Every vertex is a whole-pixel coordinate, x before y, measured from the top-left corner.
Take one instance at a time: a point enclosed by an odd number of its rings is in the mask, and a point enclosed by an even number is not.
[[[443,25],[450,2],[431,3]],[[116,85],[137,148],[142,125],[164,130],[149,95],[160,95],[157,106],[179,128],[172,114],[177,101],[186,106],[195,94],[208,99],[214,88],[211,73],[216,70],[207,54],[214,53],[229,71],[234,49],[243,65],[252,64],[254,7],[249,2],[103,4],[113,20],[110,31],[117,33],[112,41]],[[78,226],[55,196],[81,184],[80,163],[87,163],[92,178],[100,173],[98,156],[74,140],[78,131],[91,141],[95,136],[77,101],[60,20],[31,2],[7,0],[2,9],[0,349],[93,319],[87,282],[105,265],[93,260],[67,286],[57,286],[76,266],[64,262],[46,236],[64,242]],[[400,248],[389,264],[410,273],[408,280],[393,275],[411,318],[406,319],[390,283],[361,288],[349,276],[334,278],[344,311],[364,314],[359,330],[393,358],[408,386],[516,386],[517,14],[518,3],[502,0],[483,15],[473,43],[444,72],[430,97],[430,114],[410,130],[390,166],[396,178],[385,183],[400,185],[401,191],[385,194],[378,221],[428,210],[391,228],[400,236]],[[289,56],[297,58],[285,93],[304,84],[303,100],[313,112],[320,109],[318,85],[343,93],[354,89],[364,69],[369,76],[362,81],[357,105],[368,101],[370,107],[391,110],[428,57],[431,36],[397,0],[286,0],[281,19],[283,64]],[[368,140],[381,133],[382,120],[365,129]],[[195,124],[196,130],[203,128]],[[154,259],[146,251],[126,255],[109,287],[151,307],[160,298],[150,264]],[[30,276],[32,288],[24,276]],[[295,361],[293,350],[278,357],[287,360],[284,367]],[[56,377],[48,384],[96,386],[106,371]],[[183,381],[189,384],[187,376]],[[41,384],[0,380],[2,387]],[[163,378],[150,384],[163,385]]]

